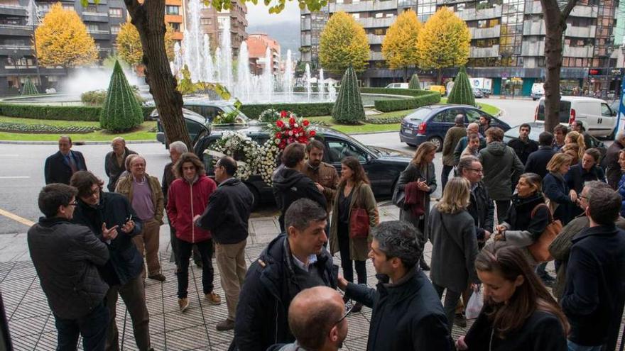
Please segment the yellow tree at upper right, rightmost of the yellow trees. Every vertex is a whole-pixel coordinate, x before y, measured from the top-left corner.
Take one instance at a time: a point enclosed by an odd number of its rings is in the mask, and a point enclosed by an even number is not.
[[[467,23],[447,7],[442,7],[419,31],[417,40],[419,67],[436,69],[440,84],[443,68],[467,63],[470,45],[471,33]]]

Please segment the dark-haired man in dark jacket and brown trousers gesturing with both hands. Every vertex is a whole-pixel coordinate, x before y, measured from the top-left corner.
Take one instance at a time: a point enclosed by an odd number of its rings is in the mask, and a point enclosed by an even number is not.
[[[92,230],[98,238],[104,238],[109,247],[110,259],[100,269],[104,282],[109,284],[107,308],[109,325],[107,350],[119,350],[116,323],[117,294],[126,303],[132,319],[132,328],[138,350],[151,350],[150,315],[146,306],[143,272],[143,258],[132,238],[141,233],[142,223],[129,201],[117,193],[102,191],[104,182],[91,172],[80,171],[72,176],[72,186],[78,189],[78,206],[73,222]],[[104,233],[116,228],[116,238],[106,239]]]

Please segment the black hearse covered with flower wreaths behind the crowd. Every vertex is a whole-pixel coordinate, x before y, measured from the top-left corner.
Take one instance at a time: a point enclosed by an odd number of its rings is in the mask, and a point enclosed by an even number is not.
[[[384,147],[366,146],[358,140],[341,133],[332,128],[312,127],[317,135],[315,139],[320,140],[325,145],[323,161],[333,165],[339,174],[341,173],[341,160],[346,156],[354,156],[362,164],[371,182],[371,189],[378,199],[390,198],[397,184],[399,174],[408,167],[413,155],[407,152],[390,150]],[[209,155],[205,155],[205,150],[210,145],[221,138],[222,134],[231,127],[212,128],[210,133],[203,133],[195,143],[194,152],[205,162],[207,174],[212,176],[214,169]],[[269,132],[263,126],[241,126],[237,129],[252,140],[262,145],[269,138]],[[261,203],[273,203],[273,192],[257,174],[253,174],[244,181],[251,193],[254,194],[254,207]]]

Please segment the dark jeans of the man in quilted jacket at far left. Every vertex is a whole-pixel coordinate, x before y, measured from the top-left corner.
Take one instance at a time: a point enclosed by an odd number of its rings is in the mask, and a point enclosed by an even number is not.
[[[54,316],[58,331],[58,351],[74,351],[78,337],[82,335],[82,348],[85,351],[104,351],[107,342],[109,310],[104,301],[95,306],[86,316],[77,319],[64,319]]]

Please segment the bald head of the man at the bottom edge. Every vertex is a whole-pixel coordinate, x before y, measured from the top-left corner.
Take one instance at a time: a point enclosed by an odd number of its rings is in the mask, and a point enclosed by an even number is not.
[[[288,326],[295,342],[276,344],[267,351],[337,351],[347,338],[348,313],[335,289],[315,286],[300,291],[288,308]]]

